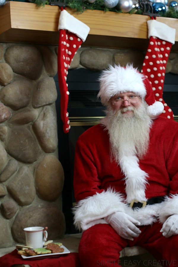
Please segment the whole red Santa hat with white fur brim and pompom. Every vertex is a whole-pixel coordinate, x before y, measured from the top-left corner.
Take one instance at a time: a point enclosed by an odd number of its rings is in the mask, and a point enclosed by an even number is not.
[[[150,81],[132,65],[109,66],[99,78],[100,90],[98,97],[104,106],[109,104],[109,99],[119,93],[134,92],[148,104],[150,117],[157,117],[163,112],[164,106],[160,101],[155,101]]]

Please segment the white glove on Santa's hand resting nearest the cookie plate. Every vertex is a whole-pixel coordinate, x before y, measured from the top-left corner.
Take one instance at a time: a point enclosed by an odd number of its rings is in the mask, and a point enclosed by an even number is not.
[[[125,239],[134,240],[134,237],[138,237],[141,233],[140,229],[136,227],[136,225],[140,225],[140,222],[125,212],[115,212],[104,219]]]

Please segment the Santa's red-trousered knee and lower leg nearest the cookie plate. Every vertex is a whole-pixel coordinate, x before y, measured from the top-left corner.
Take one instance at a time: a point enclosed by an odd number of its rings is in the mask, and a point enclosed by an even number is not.
[[[118,237],[108,224],[94,225],[84,231],[79,244],[81,266],[95,267],[105,263],[109,263],[109,266],[120,266],[121,246],[116,242]]]

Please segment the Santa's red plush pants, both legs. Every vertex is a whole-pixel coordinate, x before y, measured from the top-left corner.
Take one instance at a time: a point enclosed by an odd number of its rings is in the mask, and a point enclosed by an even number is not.
[[[81,266],[121,266],[119,252],[134,245],[147,249],[161,266],[178,266],[178,235],[165,238],[160,233],[161,227],[158,222],[141,226],[142,233],[130,241],[120,237],[110,225],[94,225],[82,234],[79,245]],[[156,260],[145,260],[142,265],[159,266]]]

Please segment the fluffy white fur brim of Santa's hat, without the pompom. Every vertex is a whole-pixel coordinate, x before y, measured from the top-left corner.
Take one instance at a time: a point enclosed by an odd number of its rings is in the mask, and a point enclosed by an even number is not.
[[[144,75],[132,65],[127,65],[125,68],[120,65],[109,66],[108,70],[102,71],[99,78],[98,97],[105,106],[108,105],[109,99],[118,93],[134,92],[144,98],[147,92],[143,79]]]

